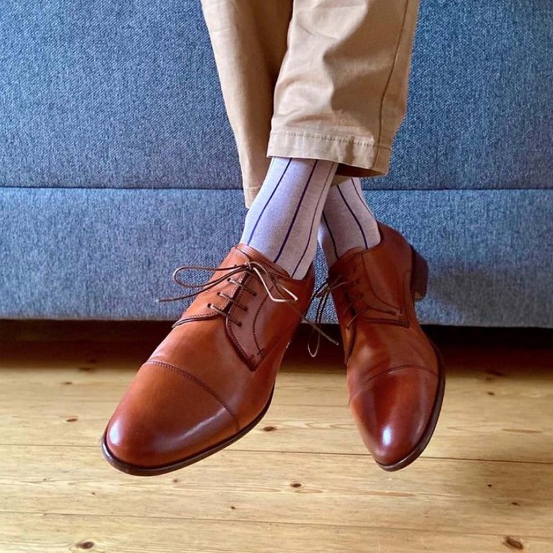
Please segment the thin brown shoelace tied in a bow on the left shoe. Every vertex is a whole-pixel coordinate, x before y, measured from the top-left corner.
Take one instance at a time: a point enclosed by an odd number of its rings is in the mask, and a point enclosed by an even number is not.
[[[202,270],[202,271],[209,271],[209,272],[221,271],[223,272],[223,274],[221,275],[221,277],[218,277],[217,279],[214,279],[212,281],[207,281],[200,284],[191,284],[191,283],[184,282],[178,278],[178,274],[181,271],[185,271],[185,270]],[[263,288],[265,288],[265,292],[267,292],[270,299],[275,303],[290,303],[290,308],[292,308],[295,312],[297,312],[297,314],[301,317],[302,321],[305,321],[307,324],[311,326],[312,332],[314,330],[317,330],[317,332],[319,332],[319,339],[320,339],[320,336],[323,335],[326,339],[332,341],[334,344],[338,344],[338,342],[335,341],[335,339],[328,336],[328,334],[326,334],[326,332],[321,330],[321,328],[313,324],[312,321],[310,321],[309,319],[306,319],[306,317],[303,316],[303,313],[301,313],[301,311],[297,309],[296,306],[293,305],[294,301],[298,301],[298,297],[296,294],[294,294],[294,292],[292,292],[291,290],[288,290],[288,288],[286,288],[285,285],[281,283],[280,281],[281,274],[279,274],[278,272],[268,270],[262,263],[258,263],[257,261],[247,261],[246,263],[232,265],[230,267],[208,267],[205,265],[180,265],[180,267],[174,270],[172,279],[183,288],[191,288],[194,290],[194,292],[191,292],[190,294],[185,294],[184,296],[171,297],[171,298],[158,298],[156,299],[156,301],[160,302],[160,301],[176,301],[180,299],[188,299],[196,296],[197,294],[201,294],[202,292],[206,292],[207,290],[210,290],[211,288],[213,288],[214,286],[220,284],[225,280],[235,285],[238,285],[240,288],[242,288],[246,292],[249,292],[255,297],[257,295],[257,292],[255,290],[252,290],[247,285],[232,278],[235,274],[242,273],[242,272],[246,272],[247,274],[251,274],[252,276],[257,277],[257,279],[261,281],[261,284],[263,284]],[[269,283],[265,279],[268,279]],[[279,293],[281,294],[281,297],[276,297],[272,294],[270,290],[271,283],[272,285],[274,285],[274,289],[279,291]],[[230,297],[224,292],[217,292],[217,294],[218,296],[227,299],[229,303],[231,303],[232,305],[235,305],[236,307],[241,308],[243,310],[247,310],[247,306],[244,306],[242,303],[240,303],[239,301],[236,301],[236,299]],[[241,321],[236,321],[236,319],[233,319],[228,312],[226,312],[225,310],[222,310],[221,308],[218,308],[217,306],[214,306],[212,303],[208,303],[207,307],[209,309],[212,309],[220,313],[221,315],[223,315],[223,317],[227,317],[227,319],[231,320],[238,326],[242,325]],[[174,324],[171,325],[171,328],[178,326],[178,324],[180,324],[179,321],[175,321]]]

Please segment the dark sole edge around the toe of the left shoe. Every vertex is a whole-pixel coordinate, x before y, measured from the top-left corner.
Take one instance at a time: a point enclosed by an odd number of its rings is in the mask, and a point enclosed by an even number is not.
[[[106,432],[107,428],[104,430],[104,434],[102,435],[102,453],[104,455],[104,458],[112,467],[115,467],[115,469],[118,469],[121,472],[124,472],[126,474],[132,474],[133,476],[158,476],[159,474],[165,474],[167,472],[176,471],[178,469],[182,469],[183,467],[187,467],[188,465],[193,465],[195,462],[198,462],[200,460],[205,459],[206,457],[209,457],[210,455],[213,455],[214,453],[217,453],[217,451],[221,451],[221,449],[224,449],[225,447],[228,447],[230,444],[233,444],[240,438],[242,438],[244,435],[246,435],[250,430],[252,430],[254,427],[261,422],[261,419],[265,416],[265,413],[267,413],[270,404],[272,402],[272,396],[274,393],[274,386],[272,387],[269,400],[267,404],[263,407],[263,410],[259,415],[256,416],[250,424],[247,424],[241,431],[237,432],[236,434],[232,435],[230,438],[227,438],[226,440],[223,440],[222,442],[219,442],[218,444],[209,447],[207,449],[204,449],[203,451],[200,451],[199,453],[196,453],[194,456],[187,457],[185,459],[178,460],[176,462],[169,463],[169,465],[157,465],[156,467],[141,467],[140,465],[131,465],[131,463],[124,462],[111,451],[109,451],[109,447],[106,442]]]

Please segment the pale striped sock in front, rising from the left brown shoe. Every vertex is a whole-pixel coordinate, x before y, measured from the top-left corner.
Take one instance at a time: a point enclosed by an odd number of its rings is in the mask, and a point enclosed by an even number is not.
[[[317,227],[337,162],[271,158],[247,212],[241,242],[303,279],[317,253]]]

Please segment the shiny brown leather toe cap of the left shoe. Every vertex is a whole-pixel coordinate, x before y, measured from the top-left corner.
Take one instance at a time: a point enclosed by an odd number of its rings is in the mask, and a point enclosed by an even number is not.
[[[144,365],[106,427],[104,448],[120,469],[162,467],[194,457],[234,432],[232,415],[200,382]]]

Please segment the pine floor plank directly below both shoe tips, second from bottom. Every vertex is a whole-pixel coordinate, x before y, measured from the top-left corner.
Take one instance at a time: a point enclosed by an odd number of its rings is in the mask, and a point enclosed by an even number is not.
[[[368,456],[227,449],[139,478],[115,471],[100,449],[4,446],[1,454],[7,512],[553,536],[552,465],[420,459],[388,473]]]

